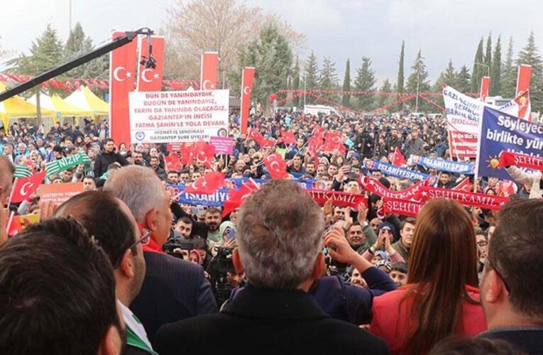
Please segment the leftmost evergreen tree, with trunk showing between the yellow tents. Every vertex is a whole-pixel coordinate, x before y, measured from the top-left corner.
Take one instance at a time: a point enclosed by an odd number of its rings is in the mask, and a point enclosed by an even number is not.
[[[21,54],[16,60],[10,61],[9,64],[15,65],[15,72],[34,76],[62,62],[62,42],[51,25],[48,25],[45,31],[33,41],[30,53],[31,55],[28,56]],[[36,94],[36,114],[38,123],[41,123],[40,87],[31,89],[31,92]]]

